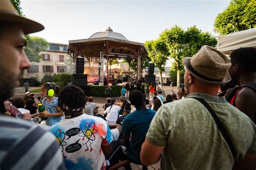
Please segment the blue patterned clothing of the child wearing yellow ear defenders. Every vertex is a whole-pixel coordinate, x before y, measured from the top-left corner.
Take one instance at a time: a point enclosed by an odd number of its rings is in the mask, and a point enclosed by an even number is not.
[[[54,97],[50,102],[47,101],[47,98],[44,98],[42,101],[42,104],[45,108],[46,111],[49,113],[57,113],[57,105],[58,105],[58,98]],[[52,126],[57,124],[60,120],[65,119],[64,115],[63,116],[58,116],[58,117],[48,117],[45,120],[45,124],[48,126]]]

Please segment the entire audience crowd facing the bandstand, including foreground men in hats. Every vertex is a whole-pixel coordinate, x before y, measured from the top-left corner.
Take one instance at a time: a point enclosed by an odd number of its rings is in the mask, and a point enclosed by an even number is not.
[[[143,89],[141,81],[124,84],[119,99],[107,86],[105,104],[53,83],[35,98],[26,82],[24,97],[12,98],[31,65],[24,35],[44,27],[18,16],[9,0],[0,16],[0,169],[147,169],[159,161],[161,169],[256,168],[253,47],[230,59],[201,47],[183,59],[185,87],[166,98],[160,82]]]

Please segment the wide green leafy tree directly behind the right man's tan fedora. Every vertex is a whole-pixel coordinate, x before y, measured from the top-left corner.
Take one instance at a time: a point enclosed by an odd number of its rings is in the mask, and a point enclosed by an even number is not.
[[[170,58],[174,59],[175,67],[172,71],[177,71],[177,87],[180,86],[181,73],[184,72],[183,58],[193,56],[203,45],[215,47],[217,39],[208,32],[202,32],[196,26],[191,26],[187,30],[179,26],[173,26],[169,30],[164,30],[160,34],[161,41],[165,42],[170,53]]]

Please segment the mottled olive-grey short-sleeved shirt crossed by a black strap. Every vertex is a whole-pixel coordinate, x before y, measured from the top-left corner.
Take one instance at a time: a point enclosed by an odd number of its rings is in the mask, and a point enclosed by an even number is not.
[[[153,118],[147,140],[165,146],[161,169],[232,169],[230,148],[203,104],[203,98],[226,128],[235,148],[235,160],[256,153],[255,125],[224,97],[192,93],[185,99],[164,104]]]

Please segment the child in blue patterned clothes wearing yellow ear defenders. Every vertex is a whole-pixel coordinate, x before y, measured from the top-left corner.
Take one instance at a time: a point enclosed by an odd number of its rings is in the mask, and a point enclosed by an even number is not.
[[[52,126],[57,124],[60,120],[64,119],[63,112],[60,112],[58,107],[58,98],[55,97],[55,92],[57,92],[55,85],[51,83],[44,83],[41,86],[41,95],[44,97],[42,104],[46,112],[39,113],[40,117],[48,118],[45,120],[45,124]]]

